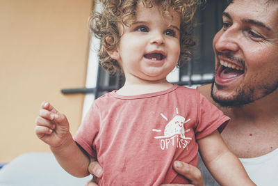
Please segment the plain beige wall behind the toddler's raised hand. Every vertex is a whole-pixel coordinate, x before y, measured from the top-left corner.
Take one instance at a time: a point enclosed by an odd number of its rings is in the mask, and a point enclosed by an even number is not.
[[[49,151],[34,132],[40,103],[81,122],[83,96],[61,88],[85,85],[92,0],[0,1],[0,162]]]

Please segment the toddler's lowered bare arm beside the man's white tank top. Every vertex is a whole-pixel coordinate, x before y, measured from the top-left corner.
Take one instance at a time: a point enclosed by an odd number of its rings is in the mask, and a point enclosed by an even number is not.
[[[231,153],[218,131],[198,140],[199,153],[220,185],[254,185],[238,157]]]

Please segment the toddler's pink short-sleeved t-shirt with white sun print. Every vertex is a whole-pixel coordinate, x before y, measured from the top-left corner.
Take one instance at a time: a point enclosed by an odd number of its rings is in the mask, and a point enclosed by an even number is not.
[[[113,91],[93,102],[74,140],[103,167],[99,185],[188,183],[174,160],[197,166],[196,139],[226,121],[198,91],[177,84],[143,95]]]

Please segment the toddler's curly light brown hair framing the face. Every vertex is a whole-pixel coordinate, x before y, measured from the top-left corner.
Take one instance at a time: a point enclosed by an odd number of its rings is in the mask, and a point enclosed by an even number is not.
[[[201,0],[102,0],[101,13],[92,13],[89,19],[90,31],[101,40],[99,61],[104,70],[111,74],[121,71],[119,63],[112,59],[107,51],[117,48],[120,41],[119,24],[130,26],[136,21],[136,8],[138,3],[143,3],[146,8],[160,6],[163,15],[170,15],[170,8],[181,17],[179,66],[192,57],[196,45],[193,39],[193,16]],[[109,41],[109,42],[108,42]]]

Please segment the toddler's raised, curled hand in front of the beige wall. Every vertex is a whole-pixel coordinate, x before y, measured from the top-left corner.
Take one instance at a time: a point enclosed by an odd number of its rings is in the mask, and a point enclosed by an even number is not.
[[[35,119],[35,134],[52,147],[62,145],[70,134],[70,124],[49,102],[42,102],[39,116]]]

